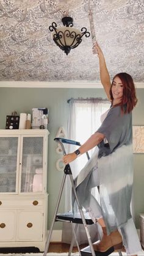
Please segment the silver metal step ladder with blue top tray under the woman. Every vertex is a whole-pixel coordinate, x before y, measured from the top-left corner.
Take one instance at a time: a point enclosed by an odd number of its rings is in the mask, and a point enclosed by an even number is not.
[[[60,146],[62,148],[63,155],[66,155],[63,143],[76,145],[76,146],[81,146],[81,144],[79,142],[73,141],[73,140],[68,140],[68,139],[65,139],[65,138],[54,138],[54,140],[60,144]],[[87,154],[87,159],[90,159],[90,157],[88,156],[88,152],[86,152],[86,154]],[[50,239],[51,239],[51,235],[52,235],[52,230],[53,230],[53,227],[54,227],[54,223],[56,221],[70,222],[71,223],[72,231],[73,231],[73,238],[71,239],[70,250],[68,252],[68,256],[71,255],[71,252],[73,250],[74,241],[76,241],[77,249],[79,251],[79,255],[81,255],[81,256],[86,256],[86,255],[87,256],[88,255],[108,256],[109,254],[111,254],[113,252],[112,249],[110,249],[109,252],[106,252],[106,253],[101,253],[101,252],[100,253],[97,253],[97,252],[95,253],[95,250],[93,249],[92,241],[90,239],[90,233],[88,232],[88,225],[92,225],[93,221],[92,221],[92,219],[90,219],[90,217],[87,216],[87,214],[85,214],[82,211],[82,208],[79,205],[79,200],[77,198],[76,189],[74,187],[74,179],[73,179],[73,175],[72,175],[72,172],[71,172],[70,165],[69,164],[65,165],[65,168],[64,168],[63,171],[64,171],[64,175],[63,175],[63,179],[62,179],[62,184],[60,186],[60,192],[59,192],[59,196],[57,198],[56,209],[54,211],[54,217],[52,219],[52,224],[51,224],[51,227],[49,229],[49,235],[48,235],[48,239],[46,241],[46,246],[45,246],[45,251],[44,251],[43,256],[46,256],[46,254],[48,252],[49,243],[50,243]],[[65,179],[66,179],[67,175],[70,177],[71,186],[72,186],[74,196],[76,198],[77,207],[78,207],[79,213],[80,213],[79,216],[73,216],[73,214],[67,214],[67,213],[65,213],[65,214],[57,213],[58,209],[59,209],[60,199],[62,197],[63,187],[65,185]],[[77,243],[77,238],[76,238],[76,230],[77,230],[78,224],[83,224],[84,225],[85,232],[86,232],[87,239],[88,239],[88,244],[89,244],[89,246],[87,246],[87,247],[85,247],[84,249],[81,249],[81,250],[80,250],[79,244]],[[96,243],[99,243],[99,241],[96,241]],[[121,254],[121,251],[118,251],[118,253],[119,253],[120,256],[123,256]]]

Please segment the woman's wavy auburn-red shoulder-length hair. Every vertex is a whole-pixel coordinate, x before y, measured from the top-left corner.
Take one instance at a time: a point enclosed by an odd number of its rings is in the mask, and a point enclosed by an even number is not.
[[[123,83],[123,97],[122,97],[121,103],[118,105],[121,106],[121,111],[123,113],[129,113],[133,110],[133,108],[137,104],[134,81],[131,75],[125,72],[118,73],[117,75],[115,75],[115,77],[119,77],[121,82]],[[115,77],[113,77],[113,80],[115,79]],[[113,84],[113,80],[112,80],[112,84]],[[112,85],[110,87],[110,99],[113,102]]]

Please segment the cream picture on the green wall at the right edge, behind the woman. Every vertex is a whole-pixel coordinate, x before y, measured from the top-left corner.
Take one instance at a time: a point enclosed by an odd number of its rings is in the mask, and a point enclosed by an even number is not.
[[[144,153],[144,126],[132,126],[133,153]]]

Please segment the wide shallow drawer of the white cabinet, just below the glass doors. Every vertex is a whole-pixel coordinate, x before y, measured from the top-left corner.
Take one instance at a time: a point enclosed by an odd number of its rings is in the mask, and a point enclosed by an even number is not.
[[[2,207],[7,207],[7,206],[18,206],[18,207],[23,207],[23,206],[42,206],[43,205],[43,199],[26,199],[23,200],[0,200],[0,209]]]

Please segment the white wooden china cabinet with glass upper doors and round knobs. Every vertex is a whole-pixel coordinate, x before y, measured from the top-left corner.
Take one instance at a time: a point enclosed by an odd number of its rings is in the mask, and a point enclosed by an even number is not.
[[[0,247],[47,239],[48,130],[0,130]]]

